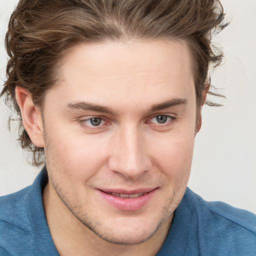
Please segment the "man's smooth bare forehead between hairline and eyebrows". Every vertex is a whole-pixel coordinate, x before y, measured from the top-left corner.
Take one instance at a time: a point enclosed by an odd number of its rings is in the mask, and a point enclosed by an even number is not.
[[[153,95],[160,100],[169,91],[168,98],[184,97],[193,87],[188,47],[174,40],[82,43],[65,54],[58,76],[51,90],[63,100],[102,104],[124,99],[152,104]]]

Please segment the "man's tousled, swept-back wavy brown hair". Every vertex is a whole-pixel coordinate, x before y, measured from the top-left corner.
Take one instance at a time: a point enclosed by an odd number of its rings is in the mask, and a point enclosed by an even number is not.
[[[222,58],[211,45],[211,34],[226,25],[223,17],[219,0],[20,0],[5,37],[9,61],[1,96],[18,115],[18,139],[33,152],[32,164],[44,162],[43,148],[32,144],[22,125],[15,86],[26,88],[42,107],[56,79],[55,67],[70,47],[106,39],[174,38],[190,48],[200,109],[209,65],[217,66]]]

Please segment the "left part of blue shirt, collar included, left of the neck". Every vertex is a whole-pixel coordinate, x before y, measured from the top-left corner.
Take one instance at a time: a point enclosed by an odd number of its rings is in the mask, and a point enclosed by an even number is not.
[[[58,255],[42,201],[47,178],[43,168],[32,185],[0,197],[0,255]]]

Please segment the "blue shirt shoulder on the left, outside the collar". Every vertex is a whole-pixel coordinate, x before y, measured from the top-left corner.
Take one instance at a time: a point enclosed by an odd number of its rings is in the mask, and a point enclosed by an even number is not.
[[[26,209],[26,195],[29,187],[18,192],[0,197],[0,252],[15,244],[28,245],[31,226]],[[26,245],[25,245],[26,244]],[[28,246],[29,247],[29,246]],[[28,248],[27,247],[27,248]],[[11,250],[7,249],[11,253]],[[7,254],[8,255],[8,254]]]

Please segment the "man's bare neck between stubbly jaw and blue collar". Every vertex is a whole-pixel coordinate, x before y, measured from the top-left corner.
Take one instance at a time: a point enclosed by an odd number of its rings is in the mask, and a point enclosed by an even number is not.
[[[153,236],[146,241],[122,245],[103,240],[83,225],[63,204],[49,183],[43,190],[43,205],[50,234],[60,256],[156,255],[167,235],[173,216],[162,223]]]

